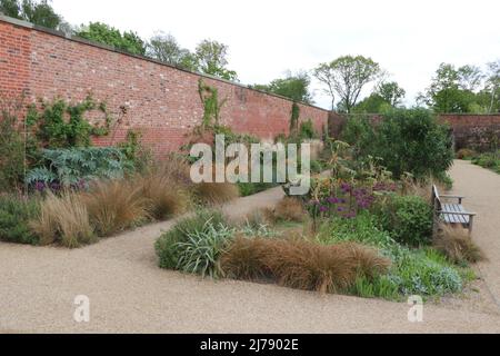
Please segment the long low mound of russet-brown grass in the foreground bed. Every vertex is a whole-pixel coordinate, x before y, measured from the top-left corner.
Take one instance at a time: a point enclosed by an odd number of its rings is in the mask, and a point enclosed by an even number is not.
[[[390,261],[358,244],[319,245],[307,240],[237,238],[221,258],[229,277],[321,293],[348,289],[360,274],[384,273]]]

